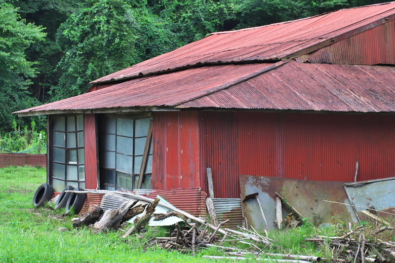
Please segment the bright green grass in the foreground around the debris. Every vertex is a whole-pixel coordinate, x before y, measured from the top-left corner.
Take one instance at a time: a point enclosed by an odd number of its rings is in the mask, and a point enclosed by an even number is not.
[[[93,234],[88,228],[75,229],[71,217],[63,216],[62,211],[33,206],[34,192],[46,181],[45,178],[43,168],[0,169],[0,263],[234,262],[203,258],[203,255],[225,255],[212,248],[199,251],[195,257],[177,251],[146,248],[144,242],[154,236],[164,236],[164,228],[148,228],[146,233],[126,239],[120,237],[122,233],[119,231],[122,230]],[[60,227],[66,227],[67,231],[59,231]],[[331,251],[325,251],[315,243],[304,242],[304,238],[314,236],[315,231],[316,228],[305,225],[288,231],[271,232],[269,235],[276,242],[265,252],[328,256]],[[257,260],[253,258],[242,262]]]

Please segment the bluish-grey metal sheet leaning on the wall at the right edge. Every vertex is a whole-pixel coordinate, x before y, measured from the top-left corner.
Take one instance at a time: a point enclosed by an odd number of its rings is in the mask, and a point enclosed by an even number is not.
[[[351,202],[356,205],[359,218],[364,217],[360,212],[366,208],[395,214],[395,177],[349,183],[345,187]],[[383,217],[394,218],[394,215],[378,213]]]

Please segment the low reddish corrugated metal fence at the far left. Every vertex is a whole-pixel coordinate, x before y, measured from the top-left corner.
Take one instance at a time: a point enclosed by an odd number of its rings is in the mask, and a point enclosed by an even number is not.
[[[46,168],[46,164],[46,154],[0,153],[0,168],[25,165]]]

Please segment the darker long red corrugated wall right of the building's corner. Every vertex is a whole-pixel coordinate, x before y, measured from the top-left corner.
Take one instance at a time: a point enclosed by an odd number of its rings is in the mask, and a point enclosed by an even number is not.
[[[215,197],[239,198],[240,174],[352,182],[358,161],[358,181],[395,176],[395,115],[199,116],[201,171],[212,169]]]

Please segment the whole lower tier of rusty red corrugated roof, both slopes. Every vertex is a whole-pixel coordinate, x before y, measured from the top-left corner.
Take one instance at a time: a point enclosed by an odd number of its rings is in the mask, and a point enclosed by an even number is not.
[[[276,67],[277,66],[277,67]],[[23,110],[20,115],[138,106],[395,112],[395,68],[278,62],[155,75]]]

